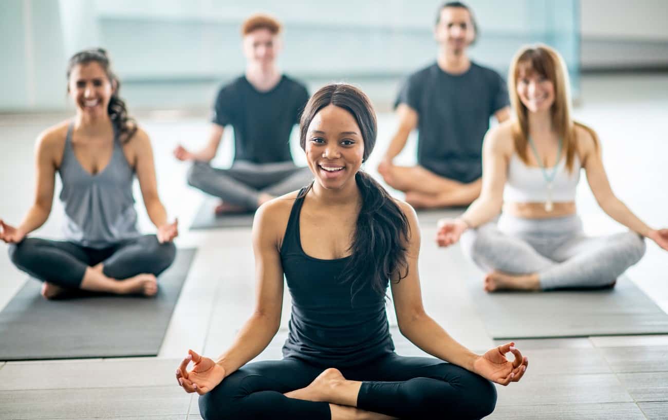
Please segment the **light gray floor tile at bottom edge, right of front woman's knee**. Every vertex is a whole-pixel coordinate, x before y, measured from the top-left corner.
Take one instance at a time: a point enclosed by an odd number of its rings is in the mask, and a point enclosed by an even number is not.
[[[501,406],[486,420],[645,420],[635,403]]]

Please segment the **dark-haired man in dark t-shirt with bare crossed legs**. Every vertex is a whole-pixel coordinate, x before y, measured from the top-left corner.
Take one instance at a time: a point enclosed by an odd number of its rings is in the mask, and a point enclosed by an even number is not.
[[[437,62],[411,74],[401,88],[395,102],[399,128],[378,167],[385,182],[417,208],[468,205],[478,198],[490,117],[501,122],[510,115],[501,76],[466,54],[476,37],[470,9],[444,3],[434,35],[440,43]],[[418,165],[393,165],[414,128]]]

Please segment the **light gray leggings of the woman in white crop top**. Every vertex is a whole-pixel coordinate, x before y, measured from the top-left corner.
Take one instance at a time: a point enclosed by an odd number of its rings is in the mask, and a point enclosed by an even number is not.
[[[482,270],[538,273],[540,288],[599,288],[613,284],[645,253],[645,240],[627,231],[587,237],[577,215],[522,219],[501,215],[464,232],[464,254]]]

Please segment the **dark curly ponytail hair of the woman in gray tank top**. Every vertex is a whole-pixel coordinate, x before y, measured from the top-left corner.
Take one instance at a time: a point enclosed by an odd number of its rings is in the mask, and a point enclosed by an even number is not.
[[[69,81],[69,75],[75,66],[92,62],[100,64],[100,67],[102,67],[102,70],[106,73],[109,82],[114,86],[114,93],[112,93],[112,98],[109,100],[107,113],[112,119],[112,124],[114,124],[114,128],[116,128],[116,132],[119,133],[122,142],[126,143],[130,141],[130,138],[137,132],[137,122],[134,118],[128,115],[128,108],[126,108],[124,100],[118,96],[121,82],[118,80],[118,77],[116,77],[116,74],[112,72],[112,63],[109,60],[107,51],[102,48],[93,48],[84,49],[83,51],[74,54],[67,64],[67,80]]]

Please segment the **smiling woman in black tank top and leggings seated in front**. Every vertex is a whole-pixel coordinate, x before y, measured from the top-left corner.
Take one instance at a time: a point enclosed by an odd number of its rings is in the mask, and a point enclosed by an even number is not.
[[[424,312],[415,212],[360,170],[375,136],[373,108],[357,88],[331,84],[309,100],[301,146],[315,181],[256,214],[255,311],[218,360],[190,350],[176,372],[202,395],[205,420],[480,419],[496,403],[490,381],[524,374],[528,361],[513,343],[474,354]],[[284,275],[293,299],[284,357],[248,363],[279,328]],[[395,354],[388,286],[401,333],[436,358]]]

